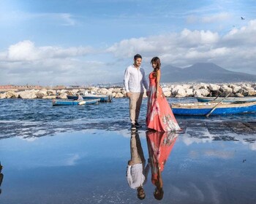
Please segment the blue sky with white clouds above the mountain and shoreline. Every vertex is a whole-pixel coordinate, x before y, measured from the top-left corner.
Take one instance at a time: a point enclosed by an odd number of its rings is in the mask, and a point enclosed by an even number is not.
[[[0,85],[123,82],[137,53],[146,74],[154,56],[256,74],[255,11],[255,0],[0,0]]]

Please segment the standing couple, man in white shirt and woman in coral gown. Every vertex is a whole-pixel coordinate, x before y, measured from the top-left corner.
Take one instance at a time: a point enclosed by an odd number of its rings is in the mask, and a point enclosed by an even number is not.
[[[143,100],[143,87],[145,87],[148,96],[146,114],[146,126],[148,129],[158,132],[181,130],[160,87],[160,59],[158,57],[151,59],[153,71],[148,76],[149,86],[145,71],[140,67],[141,62],[141,55],[135,55],[134,63],[132,66],[128,66],[124,73],[124,87],[127,92],[127,97],[129,97],[129,116],[132,122],[131,129],[136,130],[136,127],[140,127],[138,117]]]

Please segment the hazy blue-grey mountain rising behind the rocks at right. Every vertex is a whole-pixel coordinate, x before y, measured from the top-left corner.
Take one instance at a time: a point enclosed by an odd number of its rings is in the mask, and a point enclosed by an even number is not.
[[[256,82],[256,75],[228,71],[214,63],[195,63],[187,68],[162,67],[161,82]]]

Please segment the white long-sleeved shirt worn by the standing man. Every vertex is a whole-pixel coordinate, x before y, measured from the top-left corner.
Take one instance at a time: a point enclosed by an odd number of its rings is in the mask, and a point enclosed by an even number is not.
[[[128,66],[124,72],[124,88],[126,92],[144,93],[143,85],[148,90],[145,71],[143,68],[135,68],[134,65]]]

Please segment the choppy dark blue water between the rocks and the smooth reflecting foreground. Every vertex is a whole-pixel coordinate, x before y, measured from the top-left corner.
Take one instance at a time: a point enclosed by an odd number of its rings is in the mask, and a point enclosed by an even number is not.
[[[195,98],[168,98],[170,103],[195,101]],[[129,101],[87,106],[52,106],[50,100],[0,99],[0,138],[33,138],[86,129],[122,130],[129,128]],[[140,111],[145,124],[146,99]],[[256,114],[206,117],[177,117],[179,124],[198,122],[255,122]]]

